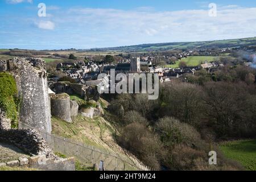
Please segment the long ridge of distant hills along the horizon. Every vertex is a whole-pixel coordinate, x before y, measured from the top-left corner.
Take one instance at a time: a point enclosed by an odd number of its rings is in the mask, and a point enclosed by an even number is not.
[[[0,59],[10,59],[15,56],[35,56],[49,58],[46,61],[56,60],[52,55],[69,55],[74,53],[78,57],[88,55],[116,55],[122,52],[145,52],[145,51],[167,51],[172,49],[194,49],[194,48],[234,48],[240,46],[255,46],[256,37],[242,38],[242,39],[228,39],[228,40],[213,40],[204,42],[170,42],[170,43],[152,43],[152,44],[139,44],[134,46],[120,46],[120,47],[106,47],[106,48],[91,48],[91,49],[61,49],[61,50],[27,50],[27,49],[0,49]],[[59,58],[61,60],[61,58]],[[58,59],[57,59],[58,60]]]

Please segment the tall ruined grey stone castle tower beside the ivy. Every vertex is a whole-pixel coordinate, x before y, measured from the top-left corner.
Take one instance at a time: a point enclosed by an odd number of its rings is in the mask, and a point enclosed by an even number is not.
[[[24,123],[51,133],[51,104],[45,61],[21,57],[0,61],[0,71],[9,71],[16,80],[21,100],[19,128],[26,128]]]

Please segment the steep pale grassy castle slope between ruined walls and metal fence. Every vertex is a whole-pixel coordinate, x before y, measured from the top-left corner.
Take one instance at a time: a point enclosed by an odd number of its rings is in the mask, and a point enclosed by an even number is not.
[[[103,117],[86,118],[79,114],[77,117],[73,118],[72,123],[67,123],[61,119],[52,117],[52,133],[60,137],[93,146],[98,148],[98,150],[108,150],[117,153],[124,158],[129,158],[130,162],[141,163],[129,151],[117,144],[116,136],[119,135],[118,131],[112,123],[108,122]]]

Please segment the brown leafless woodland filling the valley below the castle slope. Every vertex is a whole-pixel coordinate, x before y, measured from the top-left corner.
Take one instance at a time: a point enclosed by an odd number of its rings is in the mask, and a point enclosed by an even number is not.
[[[256,137],[255,72],[245,67],[220,72],[232,79],[166,83],[156,101],[144,94],[115,97],[109,110],[118,115],[119,144],[155,169],[242,169],[214,143]],[[246,82],[248,75],[252,80]],[[216,166],[208,163],[211,150],[218,154]]]

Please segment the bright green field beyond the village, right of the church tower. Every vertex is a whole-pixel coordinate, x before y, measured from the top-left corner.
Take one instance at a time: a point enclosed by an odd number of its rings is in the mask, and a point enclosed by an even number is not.
[[[170,64],[167,65],[167,67],[169,68],[179,68],[179,63],[181,61],[184,61],[185,63],[187,63],[188,66],[197,66],[199,64],[204,63],[204,61],[214,61],[214,59],[216,59],[217,56],[189,56],[185,59],[181,59],[180,61],[176,61],[176,64]]]

